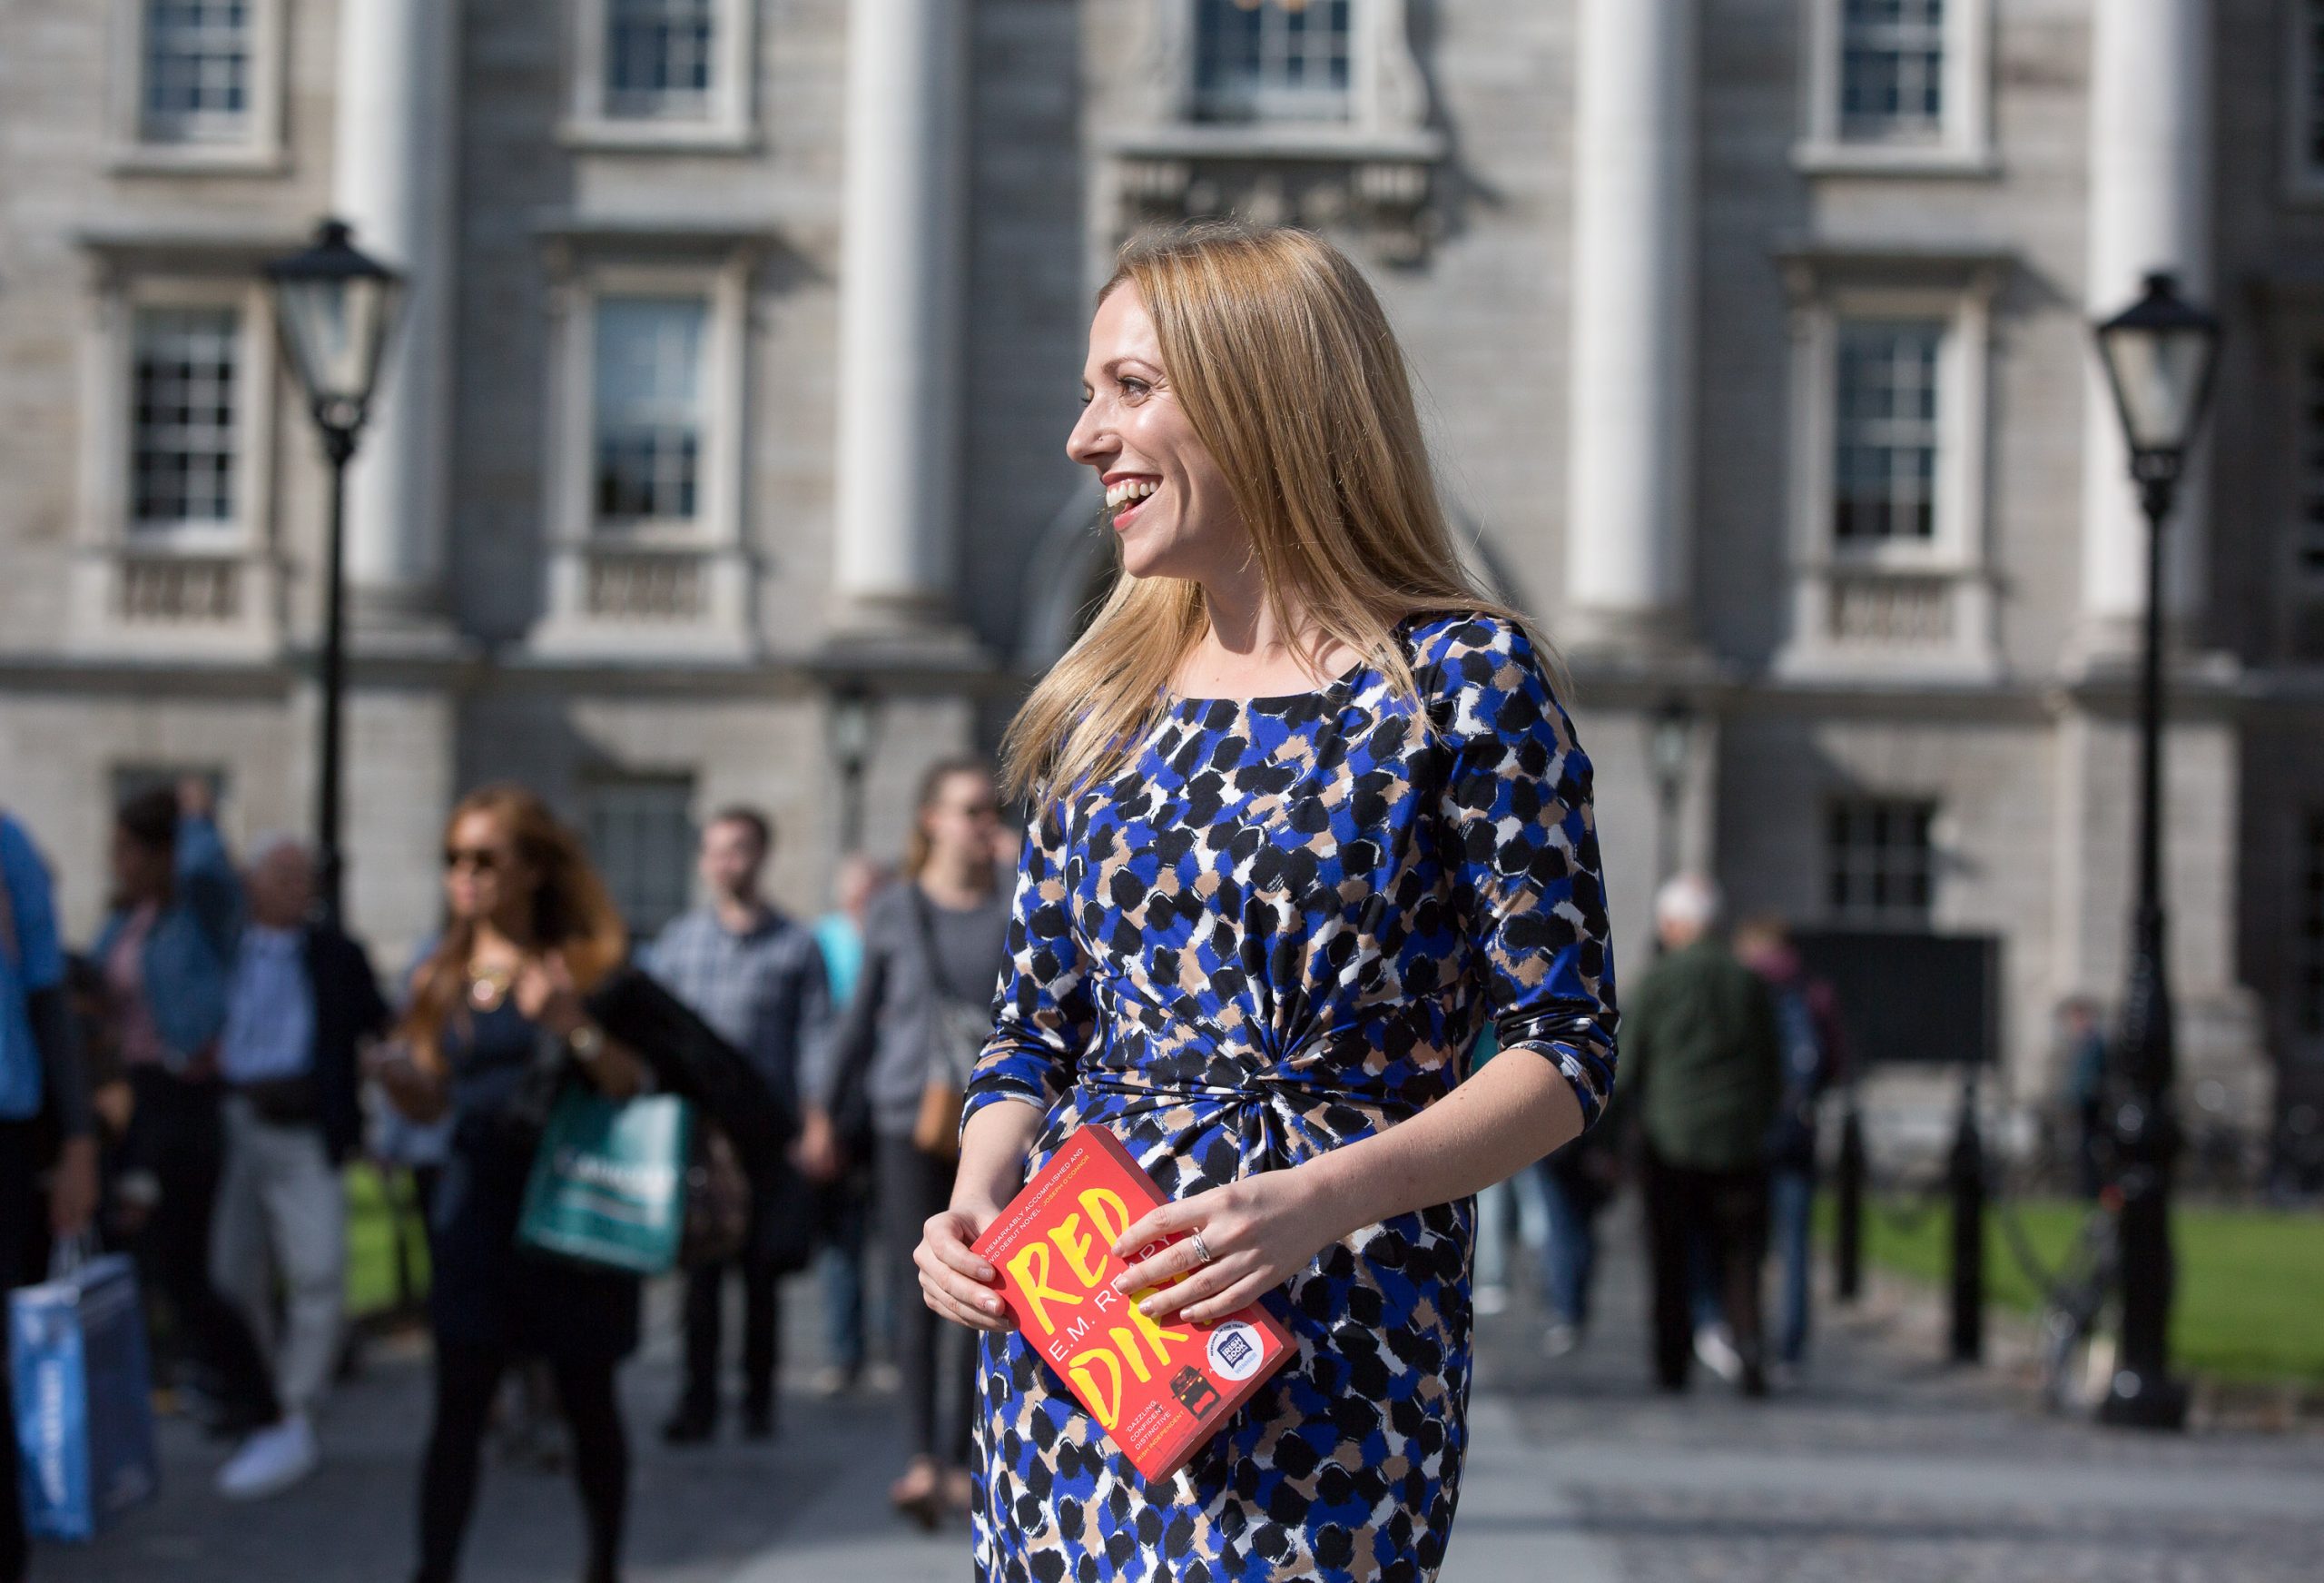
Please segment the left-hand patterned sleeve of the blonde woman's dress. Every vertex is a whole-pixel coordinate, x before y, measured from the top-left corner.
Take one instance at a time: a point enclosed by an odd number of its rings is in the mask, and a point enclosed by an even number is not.
[[[1071,1088],[1074,1065],[1097,1032],[1088,958],[1074,939],[1064,844],[1057,811],[1041,809],[1025,832],[992,1037],[969,1074],[962,1120],[999,1099],[1023,1099],[1046,1113]]]

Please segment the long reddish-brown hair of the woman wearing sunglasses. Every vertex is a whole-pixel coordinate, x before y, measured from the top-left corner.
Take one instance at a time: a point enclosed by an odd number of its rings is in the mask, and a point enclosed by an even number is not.
[[[523,786],[483,786],[453,807],[444,821],[444,846],[469,814],[488,814],[516,860],[537,876],[532,888],[532,946],[560,951],[581,990],[595,988],[630,953],[630,932],[621,909],[607,895],[597,869],[581,853],[581,841],[558,823],[548,804]],[[453,918],[444,939],[411,981],[411,1004],[397,1032],[411,1041],[418,1058],[442,1072],[444,1025],[465,1007],[467,958],[476,944],[474,918]]]

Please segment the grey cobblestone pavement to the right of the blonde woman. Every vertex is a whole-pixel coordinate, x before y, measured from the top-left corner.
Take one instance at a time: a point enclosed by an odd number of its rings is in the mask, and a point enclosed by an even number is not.
[[[1636,1230],[1587,1341],[1545,1360],[1529,1304],[1485,1323],[1480,1404],[1515,1464],[1624,1583],[2312,1583],[2324,1576],[2324,1437],[2129,1434],[2045,1418],[2008,1348],[1950,1369],[1934,1304],[1875,1292],[1822,1316],[1813,1369],[1771,1402],[1697,1374],[1650,1390]],[[1478,1532],[1466,1502],[1448,1576]],[[1504,1532],[1504,1523],[1483,1523]],[[1511,1574],[1515,1576],[1515,1574]],[[1555,1576],[1555,1574],[1538,1574]],[[1594,1581],[1592,1581],[1594,1583]]]

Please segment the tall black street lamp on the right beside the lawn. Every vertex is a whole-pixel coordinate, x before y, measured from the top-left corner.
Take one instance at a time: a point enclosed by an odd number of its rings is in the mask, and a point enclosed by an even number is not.
[[[2210,404],[2219,321],[2180,298],[2171,274],[2150,274],[2145,295],[2096,325],[2096,337],[2129,444],[2138,504],[2147,516],[2147,611],[2138,667],[2138,902],[2131,916],[2122,1032],[2108,1074],[2115,1186],[2122,1192],[2122,1360],[2099,1416],[2106,1423],[2178,1430],[2187,1423],[2187,1388],[2171,1378],[2171,1165],[2180,1134],[2171,1116],[2175,1034],[2164,962],[2164,521]]]

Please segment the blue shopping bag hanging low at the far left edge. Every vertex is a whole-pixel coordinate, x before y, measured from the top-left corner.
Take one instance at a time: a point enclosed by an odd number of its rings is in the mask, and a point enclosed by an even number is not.
[[[9,1292],[23,1525],[93,1539],[160,1485],[137,1274],[112,1253]]]

